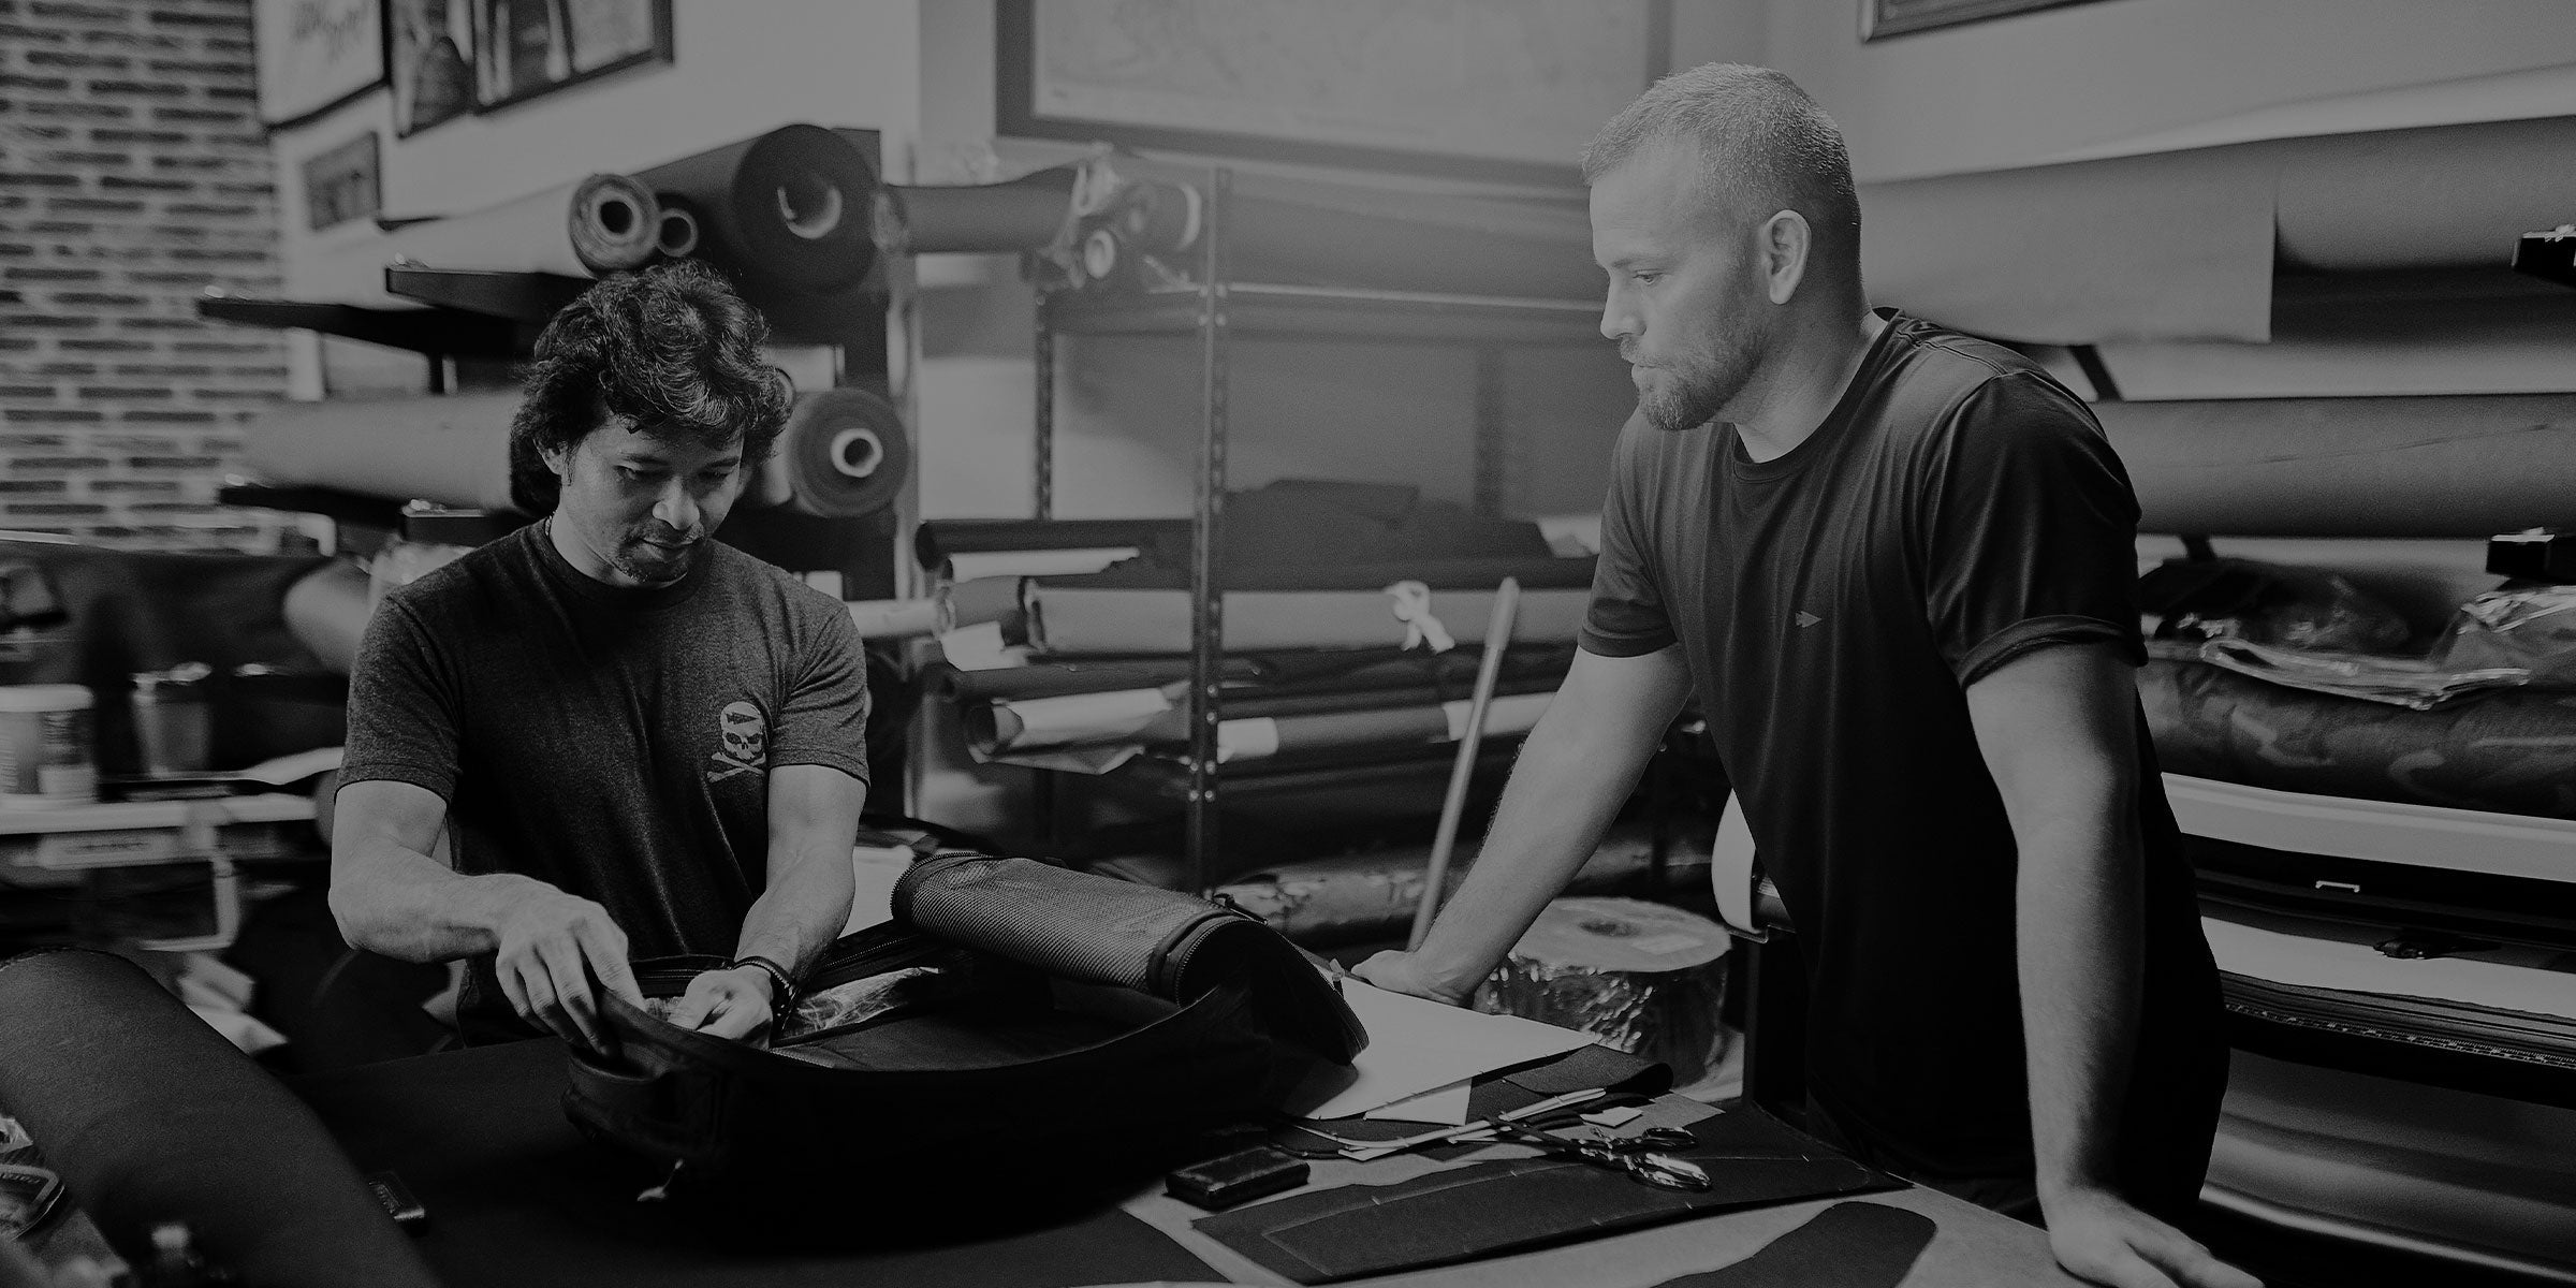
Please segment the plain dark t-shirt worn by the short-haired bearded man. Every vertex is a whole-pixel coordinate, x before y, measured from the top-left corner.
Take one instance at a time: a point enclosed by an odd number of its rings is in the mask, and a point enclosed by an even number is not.
[[[2030,1167],[2014,842],[1965,688],[2053,644],[2143,659],[2138,502],[2081,399],[1883,309],[1824,425],[1620,433],[1582,647],[1680,644],[1808,961],[1811,1095],[1942,1172]],[[2218,979],[2138,716],[2146,1012],[2130,1097],[2215,1041]]]

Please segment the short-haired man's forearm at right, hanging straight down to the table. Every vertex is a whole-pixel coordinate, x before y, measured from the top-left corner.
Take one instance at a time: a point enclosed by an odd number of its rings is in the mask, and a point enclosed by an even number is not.
[[[2014,940],[2038,1190],[2112,1188],[2143,974],[2138,848],[2066,817],[2022,845]]]

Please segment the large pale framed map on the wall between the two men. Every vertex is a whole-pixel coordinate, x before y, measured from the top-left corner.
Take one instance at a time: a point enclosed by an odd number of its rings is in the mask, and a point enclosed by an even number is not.
[[[1002,134],[1571,183],[1669,0],[999,0]]]

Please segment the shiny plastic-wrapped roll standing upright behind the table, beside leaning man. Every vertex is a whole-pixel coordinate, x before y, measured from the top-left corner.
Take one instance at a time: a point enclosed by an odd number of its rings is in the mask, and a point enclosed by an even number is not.
[[[1476,989],[1476,1010],[1592,1033],[1687,1087],[1734,1041],[1718,1023],[1726,948],[1718,922],[1677,907],[1556,899]]]

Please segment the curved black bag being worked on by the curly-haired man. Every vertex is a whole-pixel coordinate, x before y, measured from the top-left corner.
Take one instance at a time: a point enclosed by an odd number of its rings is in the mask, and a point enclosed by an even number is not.
[[[667,999],[714,966],[652,958],[636,976]],[[564,1110],[737,1195],[1061,1185],[1164,1167],[1368,1043],[1257,920],[979,853],[917,863],[894,920],[835,943],[801,994],[768,1048],[611,997],[618,1056],[574,1054]]]

